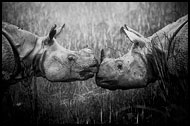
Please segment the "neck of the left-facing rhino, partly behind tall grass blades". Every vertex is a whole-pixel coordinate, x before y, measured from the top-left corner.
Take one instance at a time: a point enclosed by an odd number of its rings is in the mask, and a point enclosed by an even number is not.
[[[148,39],[148,51],[146,59],[148,63],[148,76],[150,80],[170,80],[171,74],[168,71],[168,57],[170,46],[177,33],[188,22],[188,15],[178,19],[176,22],[167,25],[153,34]]]

